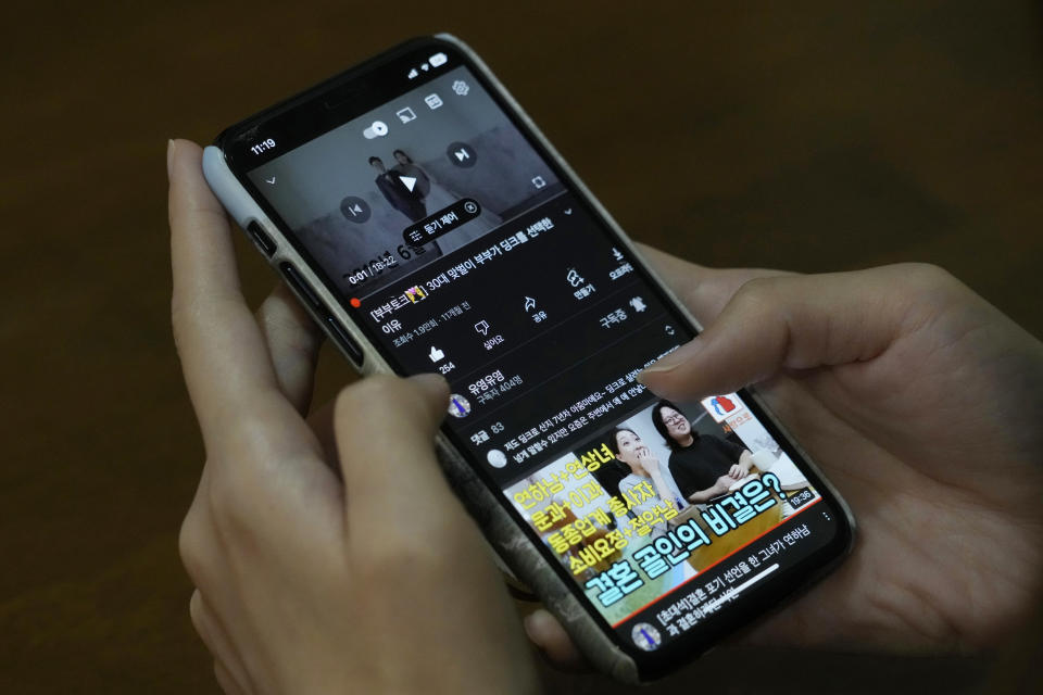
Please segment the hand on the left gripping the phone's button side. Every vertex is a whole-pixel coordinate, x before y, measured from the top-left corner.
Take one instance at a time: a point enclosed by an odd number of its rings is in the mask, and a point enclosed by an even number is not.
[[[168,156],[174,334],[206,447],[180,549],[222,687],[535,692],[501,578],[435,460],[444,380],[370,377],[313,428],[316,329],[285,290],[250,314],[199,148]]]

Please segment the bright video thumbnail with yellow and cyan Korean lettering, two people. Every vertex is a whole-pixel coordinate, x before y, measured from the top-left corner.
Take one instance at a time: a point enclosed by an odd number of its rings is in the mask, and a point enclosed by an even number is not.
[[[659,401],[504,493],[613,624],[819,498],[734,393]]]

